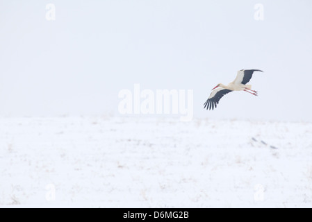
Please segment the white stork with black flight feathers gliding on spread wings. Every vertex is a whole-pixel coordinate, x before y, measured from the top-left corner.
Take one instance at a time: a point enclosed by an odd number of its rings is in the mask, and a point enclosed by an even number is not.
[[[253,94],[254,96],[258,96],[258,92],[251,89],[252,85],[246,85],[246,83],[248,83],[249,80],[252,78],[252,74],[254,73],[254,71],[261,71],[261,70],[241,69],[240,71],[238,71],[236,78],[233,80],[233,82],[229,83],[229,85],[223,85],[222,83],[219,83],[216,87],[213,88],[215,90],[212,89],[213,92],[211,92],[206,103],[204,103],[204,108],[206,108],[207,110],[208,108],[209,110],[216,108],[222,96],[232,91],[244,90],[245,92],[249,92],[250,94]],[[216,89],[217,87],[220,87],[220,88]]]

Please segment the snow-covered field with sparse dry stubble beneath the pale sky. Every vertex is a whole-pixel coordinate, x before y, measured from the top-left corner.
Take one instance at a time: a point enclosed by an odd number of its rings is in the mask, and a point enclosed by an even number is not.
[[[1,207],[312,207],[312,123],[2,117],[0,147]]]

